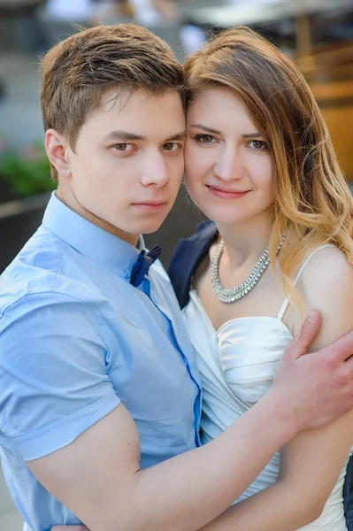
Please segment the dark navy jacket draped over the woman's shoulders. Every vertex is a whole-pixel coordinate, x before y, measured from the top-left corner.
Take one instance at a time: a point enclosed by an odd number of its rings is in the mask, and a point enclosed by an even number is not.
[[[174,250],[168,273],[180,308],[188,304],[192,277],[217,237],[215,224],[212,221],[205,221],[197,227],[195,235],[186,240],[180,240]],[[343,500],[347,527],[349,531],[353,531],[353,458],[349,459]]]

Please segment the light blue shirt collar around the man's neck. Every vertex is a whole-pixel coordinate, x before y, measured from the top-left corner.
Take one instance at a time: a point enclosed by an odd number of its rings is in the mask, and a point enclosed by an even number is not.
[[[42,224],[73,249],[127,281],[127,273],[131,273],[140,250],[144,249],[142,235],[136,248],[73,212],[55,192],[50,197]]]

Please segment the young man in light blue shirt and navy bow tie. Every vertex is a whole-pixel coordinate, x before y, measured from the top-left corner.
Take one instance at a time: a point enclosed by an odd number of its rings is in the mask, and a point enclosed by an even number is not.
[[[157,250],[146,256],[139,237],[179,189],[182,85],[171,50],[142,27],[92,28],[43,60],[58,191],[0,280],[0,443],[32,531],[200,529],[297,431],[353,405],[352,334],[301,357],[314,312],[272,390],[196,448],[193,352],[165,272],[149,272]]]

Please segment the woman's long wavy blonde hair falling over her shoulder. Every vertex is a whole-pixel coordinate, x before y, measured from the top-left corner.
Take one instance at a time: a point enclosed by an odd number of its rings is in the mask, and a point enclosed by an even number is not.
[[[303,75],[280,50],[246,27],[227,30],[184,65],[187,104],[210,85],[234,89],[270,144],[276,167],[270,260],[280,235],[283,287],[302,307],[293,276],[311,250],[325,243],[353,262],[353,199],[326,124]]]

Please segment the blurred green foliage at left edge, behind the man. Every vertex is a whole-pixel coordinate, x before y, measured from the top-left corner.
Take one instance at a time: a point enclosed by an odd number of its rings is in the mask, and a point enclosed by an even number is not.
[[[56,188],[56,183],[51,181],[44,146],[39,142],[20,151],[0,149],[0,180],[5,181],[18,197],[34,196]]]

